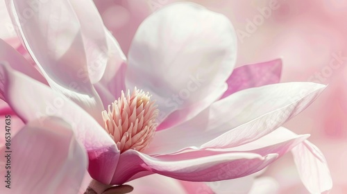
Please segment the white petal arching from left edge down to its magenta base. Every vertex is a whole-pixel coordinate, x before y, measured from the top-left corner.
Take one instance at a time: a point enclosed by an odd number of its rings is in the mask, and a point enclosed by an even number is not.
[[[90,114],[46,85],[2,64],[0,78],[0,94],[23,121],[39,119],[44,122],[44,116],[57,116],[67,121],[88,151],[91,176],[105,184],[110,182],[119,150]]]

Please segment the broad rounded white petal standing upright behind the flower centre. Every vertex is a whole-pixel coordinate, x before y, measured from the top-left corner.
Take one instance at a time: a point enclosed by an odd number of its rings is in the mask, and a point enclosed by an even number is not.
[[[137,29],[126,87],[153,95],[163,121],[158,130],[176,125],[221,97],[236,52],[235,30],[225,16],[194,3],[174,3]]]

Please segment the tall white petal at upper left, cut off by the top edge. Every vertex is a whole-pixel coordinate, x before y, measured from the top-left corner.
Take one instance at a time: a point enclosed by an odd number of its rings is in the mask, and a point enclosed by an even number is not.
[[[90,82],[81,25],[71,4],[67,0],[29,4],[8,0],[8,11],[28,52],[53,89],[102,123],[103,105]]]

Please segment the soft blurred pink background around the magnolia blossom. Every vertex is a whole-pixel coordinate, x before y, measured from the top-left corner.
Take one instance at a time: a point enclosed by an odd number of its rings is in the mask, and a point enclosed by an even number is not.
[[[151,12],[175,1],[94,2],[105,25],[127,53],[139,24]],[[347,0],[194,2],[232,21],[239,34],[238,66],[282,58],[282,82],[314,81],[328,85],[308,109],[285,126],[299,134],[312,134],[310,141],[323,151],[330,166],[334,182],[331,193],[347,193]],[[2,24],[9,22],[2,11],[5,9],[1,4]],[[264,10],[267,12],[262,16],[260,12]],[[13,33],[8,25],[0,28],[1,38]],[[280,193],[307,193],[290,155],[276,161],[266,175],[278,180]]]

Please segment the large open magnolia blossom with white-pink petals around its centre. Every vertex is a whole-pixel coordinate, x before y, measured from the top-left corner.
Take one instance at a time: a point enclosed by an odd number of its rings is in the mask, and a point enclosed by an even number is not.
[[[242,79],[248,67],[232,73],[237,37],[223,15],[193,3],[163,8],[139,26],[127,60],[91,1],[35,1],[29,18],[26,3],[7,2],[44,78],[0,42],[0,97],[24,123],[44,116],[69,123],[96,181],[124,184],[153,173],[191,182],[235,179],[293,149],[307,189],[331,188],[308,135],[280,127],[325,86],[257,87]],[[261,72],[278,62],[255,67]]]

